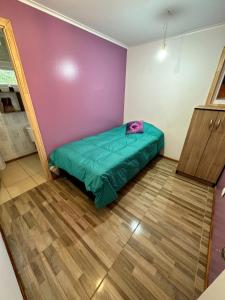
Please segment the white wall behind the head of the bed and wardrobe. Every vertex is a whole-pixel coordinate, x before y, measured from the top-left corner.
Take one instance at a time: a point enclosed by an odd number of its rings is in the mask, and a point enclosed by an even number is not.
[[[143,119],[165,132],[165,155],[179,159],[193,108],[204,104],[225,46],[225,25],[128,49],[125,121]]]

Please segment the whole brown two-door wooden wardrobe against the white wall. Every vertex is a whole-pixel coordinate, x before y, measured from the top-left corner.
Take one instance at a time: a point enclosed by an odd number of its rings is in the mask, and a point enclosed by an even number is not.
[[[225,108],[196,107],[177,173],[215,184],[225,165]]]

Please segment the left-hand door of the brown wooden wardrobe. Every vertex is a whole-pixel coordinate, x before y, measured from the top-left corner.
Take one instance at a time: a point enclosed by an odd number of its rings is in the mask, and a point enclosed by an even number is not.
[[[217,111],[195,109],[177,171],[195,176],[217,116]]]

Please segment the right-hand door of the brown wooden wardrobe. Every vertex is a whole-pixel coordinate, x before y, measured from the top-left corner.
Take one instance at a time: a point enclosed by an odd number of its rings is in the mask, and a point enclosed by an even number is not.
[[[225,165],[225,112],[219,112],[196,177],[216,183]]]

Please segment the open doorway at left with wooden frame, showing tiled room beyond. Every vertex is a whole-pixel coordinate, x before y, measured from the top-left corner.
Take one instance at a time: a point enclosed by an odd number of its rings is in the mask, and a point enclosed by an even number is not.
[[[47,155],[12,27],[0,18],[0,204],[48,178]]]

